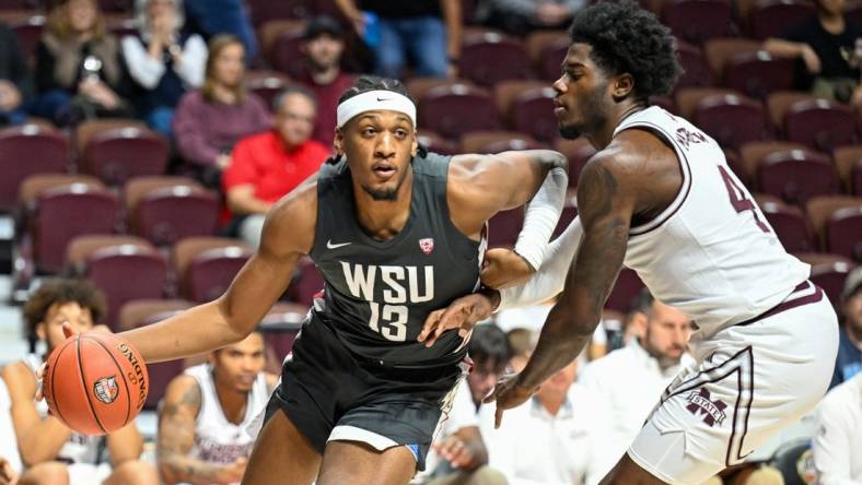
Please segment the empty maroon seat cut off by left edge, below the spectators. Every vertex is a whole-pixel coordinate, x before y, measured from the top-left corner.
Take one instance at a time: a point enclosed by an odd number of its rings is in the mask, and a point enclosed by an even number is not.
[[[37,125],[0,130],[0,211],[18,200],[21,182],[31,175],[63,173],[69,164],[69,142],[62,134]]]

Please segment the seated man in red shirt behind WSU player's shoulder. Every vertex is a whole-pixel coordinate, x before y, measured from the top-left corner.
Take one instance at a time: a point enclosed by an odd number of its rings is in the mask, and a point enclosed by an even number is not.
[[[242,217],[240,237],[254,248],[269,208],[317,171],[330,152],[311,140],[317,115],[314,93],[288,87],[276,98],[275,109],[272,130],[240,140],[222,177],[228,208]]]

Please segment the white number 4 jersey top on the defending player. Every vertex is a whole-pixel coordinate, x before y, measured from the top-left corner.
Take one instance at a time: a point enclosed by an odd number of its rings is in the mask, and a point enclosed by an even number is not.
[[[719,144],[653,106],[615,130],[646,129],[674,147],[683,184],[655,220],[632,227],[625,264],[653,295],[690,316],[704,334],[781,303],[809,267],[784,251]]]

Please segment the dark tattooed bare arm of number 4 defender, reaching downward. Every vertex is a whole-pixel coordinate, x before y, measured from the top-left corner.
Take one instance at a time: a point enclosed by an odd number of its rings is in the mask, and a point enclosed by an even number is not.
[[[548,315],[538,344],[524,370],[501,382],[497,422],[523,403],[548,377],[568,365],[590,341],[617,279],[628,245],[638,190],[638,166],[624,153],[607,152],[587,163],[578,191],[583,238],[557,305]]]

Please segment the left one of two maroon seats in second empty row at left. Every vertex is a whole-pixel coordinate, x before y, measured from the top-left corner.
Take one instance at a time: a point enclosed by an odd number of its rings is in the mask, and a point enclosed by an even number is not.
[[[118,213],[117,197],[103,188],[73,184],[43,191],[32,220],[38,270],[60,271],[66,245],[77,236],[113,233]]]

